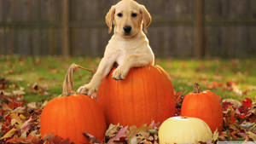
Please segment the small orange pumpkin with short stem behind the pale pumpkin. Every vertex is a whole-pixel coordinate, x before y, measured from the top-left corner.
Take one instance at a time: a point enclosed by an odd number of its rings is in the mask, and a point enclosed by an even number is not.
[[[185,96],[181,108],[181,115],[201,118],[212,132],[223,128],[223,113],[220,98],[210,90],[202,91],[199,84],[194,84],[194,92]]]

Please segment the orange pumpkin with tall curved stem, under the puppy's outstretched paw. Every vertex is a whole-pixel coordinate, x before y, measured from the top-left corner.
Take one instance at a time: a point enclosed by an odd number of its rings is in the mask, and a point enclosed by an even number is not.
[[[41,114],[41,135],[53,134],[76,144],[89,143],[84,132],[103,139],[106,123],[102,108],[87,95],[73,95],[72,65],[63,84],[63,97],[49,101]]]

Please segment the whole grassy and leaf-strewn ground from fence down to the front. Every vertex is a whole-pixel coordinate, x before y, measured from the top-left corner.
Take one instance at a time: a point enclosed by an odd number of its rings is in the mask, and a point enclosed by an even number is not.
[[[22,57],[0,58],[0,143],[71,143],[55,135],[40,136],[40,113],[47,101],[61,94],[71,63],[92,70],[98,58]],[[177,115],[183,96],[194,82],[223,98],[224,130],[208,141],[256,141],[256,60],[157,59],[172,78]],[[75,88],[89,82],[90,72],[74,76]],[[254,101],[254,102],[253,102]],[[159,124],[140,128],[110,125],[105,142],[158,143]],[[86,136],[86,135],[84,135]],[[91,141],[97,141],[93,136]]]

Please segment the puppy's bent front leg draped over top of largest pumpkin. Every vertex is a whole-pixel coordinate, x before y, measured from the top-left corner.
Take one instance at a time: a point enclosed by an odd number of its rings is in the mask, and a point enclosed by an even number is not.
[[[116,80],[125,79],[131,67],[147,66],[154,63],[154,58],[150,55],[129,55],[124,62],[119,65],[112,74]]]

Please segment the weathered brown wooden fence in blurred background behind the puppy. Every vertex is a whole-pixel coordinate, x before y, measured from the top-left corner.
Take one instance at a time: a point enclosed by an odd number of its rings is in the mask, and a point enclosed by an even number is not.
[[[0,0],[0,55],[102,56],[104,18],[118,0]],[[163,57],[253,57],[256,0],[138,0]]]

